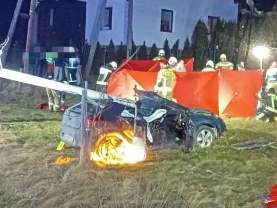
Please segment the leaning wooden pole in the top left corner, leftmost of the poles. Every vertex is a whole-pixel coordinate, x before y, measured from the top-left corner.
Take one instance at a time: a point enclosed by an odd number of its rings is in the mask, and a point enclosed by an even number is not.
[[[16,22],[17,22],[19,13],[20,13],[22,3],[23,3],[23,0],[18,0],[17,3],[16,3],[14,14],[13,14],[13,17],[12,17],[12,20],[11,20],[11,25],[10,25],[8,35],[7,35],[7,38],[9,37],[10,40],[9,40],[8,44],[6,45],[6,47],[3,49],[3,55],[2,55],[3,65],[6,63],[7,55],[8,55],[8,52],[10,50],[10,47],[11,47],[12,37],[13,37],[14,31],[15,31]]]

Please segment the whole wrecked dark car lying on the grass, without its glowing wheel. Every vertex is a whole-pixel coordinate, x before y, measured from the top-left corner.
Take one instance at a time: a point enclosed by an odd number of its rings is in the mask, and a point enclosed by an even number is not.
[[[146,143],[151,150],[168,149],[180,145],[189,150],[193,149],[195,142],[203,143],[202,146],[206,147],[226,130],[222,119],[208,110],[190,109],[164,99],[154,92],[134,90],[138,98],[137,125],[146,132]],[[98,102],[95,100],[88,102],[90,120],[118,123],[119,118],[129,125],[134,124],[133,108],[106,101],[101,114],[96,114],[97,106],[100,106]],[[207,134],[212,136],[209,142],[206,141]],[[81,103],[66,109],[61,123],[61,140],[70,146],[80,147]]]

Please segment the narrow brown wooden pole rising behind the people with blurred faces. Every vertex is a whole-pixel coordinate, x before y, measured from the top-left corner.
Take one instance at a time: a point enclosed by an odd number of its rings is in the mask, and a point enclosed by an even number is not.
[[[33,31],[33,23],[34,23],[34,10],[36,7],[36,0],[31,0],[30,4],[30,12],[29,12],[29,21],[28,21],[28,32],[27,32],[27,40],[26,40],[26,54],[29,54],[29,49],[32,44],[32,31]],[[24,59],[24,73],[29,73],[29,59],[25,57]]]

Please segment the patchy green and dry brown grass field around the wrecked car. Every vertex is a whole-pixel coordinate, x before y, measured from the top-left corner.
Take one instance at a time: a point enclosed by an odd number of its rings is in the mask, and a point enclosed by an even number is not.
[[[55,150],[62,115],[35,109],[44,90],[27,91],[1,95],[0,207],[262,207],[277,181],[277,150],[229,148],[276,138],[276,124],[253,118],[226,118],[220,140],[190,154],[161,151],[124,168],[56,165],[57,157],[78,158],[79,151]]]

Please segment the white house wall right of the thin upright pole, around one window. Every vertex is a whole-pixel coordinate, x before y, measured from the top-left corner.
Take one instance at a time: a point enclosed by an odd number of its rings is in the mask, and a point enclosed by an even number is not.
[[[162,9],[173,10],[172,33],[160,31]],[[208,15],[235,20],[238,5],[235,5],[233,0],[134,0],[134,42],[141,45],[146,41],[148,47],[156,43],[158,48],[162,48],[166,38],[171,47],[180,39],[181,48],[186,37],[191,37],[199,18],[207,23]]]

